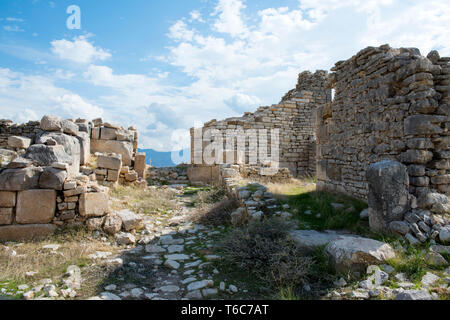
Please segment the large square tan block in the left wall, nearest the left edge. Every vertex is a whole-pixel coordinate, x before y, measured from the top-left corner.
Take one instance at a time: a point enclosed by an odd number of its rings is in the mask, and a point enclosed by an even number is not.
[[[17,193],[16,221],[19,224],[49,223],[55,210],[55,190],[35,189]]]

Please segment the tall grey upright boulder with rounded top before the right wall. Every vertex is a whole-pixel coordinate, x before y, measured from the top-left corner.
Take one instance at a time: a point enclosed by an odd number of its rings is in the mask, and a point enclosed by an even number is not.
[[[373,231],[388,232],[392,221],[403,220],[410,209],[409,177],[406,166],[383,160],[369,166],[369,225]]]

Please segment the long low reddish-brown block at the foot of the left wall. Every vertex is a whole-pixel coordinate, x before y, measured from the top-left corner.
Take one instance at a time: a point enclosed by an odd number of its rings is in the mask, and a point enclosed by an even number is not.
[[[54,224],[26,224],[0,227],[0,241],[35,240],[50,236],[56,230]]]

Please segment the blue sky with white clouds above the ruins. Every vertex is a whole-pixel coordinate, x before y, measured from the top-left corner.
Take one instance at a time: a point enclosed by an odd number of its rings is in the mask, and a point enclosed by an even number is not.
[[[1,1],[0,118],[103,117],[176,150],[366,46],[449,56],[449,17],[448,0]]]

